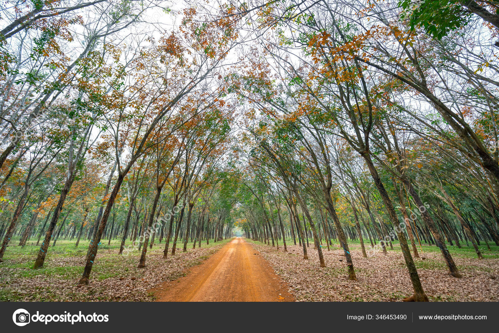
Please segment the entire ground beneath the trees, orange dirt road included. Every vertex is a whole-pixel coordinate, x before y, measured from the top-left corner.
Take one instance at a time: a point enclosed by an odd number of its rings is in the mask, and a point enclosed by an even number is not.
[[[16,241],[12,239],[11,244]],[[231,241],[214,243],[210,240],[209,245],[203,241],[203,247],[196,249],[192,249],[192,242],[189,242],[187,252],[182,252],[179,242],[177,253],[173,256],[169,253],[167,259],[163,259],[165,243],[156,242],[152,249],[148,248],[147,266],[137,268],[139,251],[121,256],[118,254],[120,240],[113,239],[110,245],[105,240],[87,286],[77,282],[85,264],[88,241],[81,241],[76,248],[74,240],[58,240],[55,247],[49,247],[44,267],[40,269],[32,269],[39,249],[35,242],[30,241],[25,247],[11,245],[0,263],[0,301],[170,300],[162,298],[164,294],[157,291],[158,288],[168,289],[172,284],[168,282],[175,280],[180,282],[175,282],[178,286],[175,286],[177,293],[174,294],[180,296],[173,300],[399,301],[412,293],[397,242],[394,242],[393,250],[388,247],[387,256],[378,252],[363,258],[359,242],[349,241],[358,279],[351,281],[347,279],[343,251],[337,243],[333,243],[330,251],[323,245],[326,267],[321,268],[311,241],[307,248],[308,260],[303,259],[300,246],[289,245],[290,239],[287,240],[287,252],[284,252],[282,241],[279,241],[278,250],[247,238]],[[448,248],[463,278],[447,274],[436,246],[418,246],[421,258],[415,258],[415,263],[430,300],[498,301],[499,246],[491,245],[492,251],[489,251],[482,244],[483,260],[476,258],[472,247],[448,245]],[[269,289],[265,291],[270,294],[269,299],[258,291],[261,287],[258,281],[269,283]],[[191,284],[196,287],[192,288]],[[186,290],[183,287],[198,291],[191,295],[183,292]],[[248,299],[234,296],[241,292],[238,289],[246,290]]]

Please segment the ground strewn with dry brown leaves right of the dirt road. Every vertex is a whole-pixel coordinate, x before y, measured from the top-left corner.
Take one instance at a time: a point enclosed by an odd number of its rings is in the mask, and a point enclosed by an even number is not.
[[[338,243],[322,251],[326,267],[319,267],[313,241],[307,248],[308,260],[303,259],[303,248],[288,239],[287,252],[282,242],[279,250],[271,245],[252,241],[253,247],[270,263],[275,273],[289,287],[297,301],[400,301],[412,294],[412,284],[397,242],[393,250],[362,257],[359,242],[348,244],[352,253],[357,281],[348,280],[343,250]],[[418,246],[421,258],[414,258],[423,288],[431,301],[498,301],[499,300],[499,246],[489,251],[485,244],[481,251],[485,259],[478,259],[473,247],[459,249],[449,246],[463,278],[448,275],[447,266],[436,246]],[[425,258],[425,259],[423,259]]]

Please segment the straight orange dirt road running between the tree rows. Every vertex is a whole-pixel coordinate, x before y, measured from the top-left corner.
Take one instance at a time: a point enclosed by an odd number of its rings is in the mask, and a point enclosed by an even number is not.
[[[150,291],[157,301],[294,301],[268,262],[242,237],[187,273]]]

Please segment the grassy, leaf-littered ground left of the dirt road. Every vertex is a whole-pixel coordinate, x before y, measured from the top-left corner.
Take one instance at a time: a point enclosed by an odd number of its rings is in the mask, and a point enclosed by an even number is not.
[[[155,242],[147,249],[146,267],[137,268],[139,251],[130,255],[119,255],[121,240],[113,239],[107,245],[103,240],[92,267],[90,283],[77,282],[85,266],[88,241],[58,240],[50,246],[42,268],[33,269],[39,246],[33,241],[26,246],[15,246],[18,239],[12,239],[7,247],[3,262],[0,262],[0,301],[148,301],[153,295],[148,292],[164,281],[175,280],[185,274],[185,269],[198,265],[223,247],[231,239],[210,244],[202,241],[202,247],[182,252],[183,243],[177,243],[175,255],[163,258],[165,242]],[[128,244],[129,242],[127,242]]]

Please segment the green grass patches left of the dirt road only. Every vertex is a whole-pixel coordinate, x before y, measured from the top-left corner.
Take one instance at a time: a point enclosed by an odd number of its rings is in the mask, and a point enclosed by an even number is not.
[[[206,240],[204,240],[201,245],[203,248],[210,248],[221,243],[227,243],[230,240],[224,239],[220,242],[214,242],[213,239],[210,239],[209,244],[206,244]],[[3,262],[0,262],[0,301],[26,299],[22,283],[30,283],[31,287],[36,288],[32,300],[59,300],[60,293],[57,295],[51,288],[60,288],[61,283],[66,283],[65,281],[73,283],[81,277],[89,245],[88,240],[80,240],[78,247],[74,246],[76,239],[57,240],[55,247],[50,246],[48,248],[44,265],[38,269],[33,269],[34,260],[40,248],[39,245],[36,245],[36,239],[28,241],[24,247],[16,246],[18,242],[19,239],[16,237],[11,239],[10,245],[3,256]],[[126,245],[129,243],[130,241],[127,239]],[[129,256],[119,255],[120,244],[121,239],[112,239],[109,245],[108,239],[102,240],[97,259],[92,267],[92,279],[102,281],[127,274],[133,274],[137,279],[142,277],[143,270],[136,269],[141,252],[135,251]],[[192,242],[188,242],[188,250],[191,250],[192,244]],[[169,251],[171,251],[172,245],[173,242],[171,241]],[[148,248],[148,256],[157,257],[161,255],[164,246],[164,241],[158,243],[156,240],[153,248]],[[183,242],[179,239],[176,252],[181,253],[182,247]],[[198,248],[198,244],[196,248]],[[196,259],[179,259],[184,260],[188,266],[193,266],[202,263],[208,257],[209,255],[203,255]],[[165,276],[165,279],[177,278],[180,276],[179,274],[183,273],[181,271],[174,272],[172,276]],[[22,281],[21,284],[19,284],[19,281]],[[54,284],[50,287],[37,288],[37,281],[54,281]],[[99,298],[98,295],[95,295],[95,297]]]

